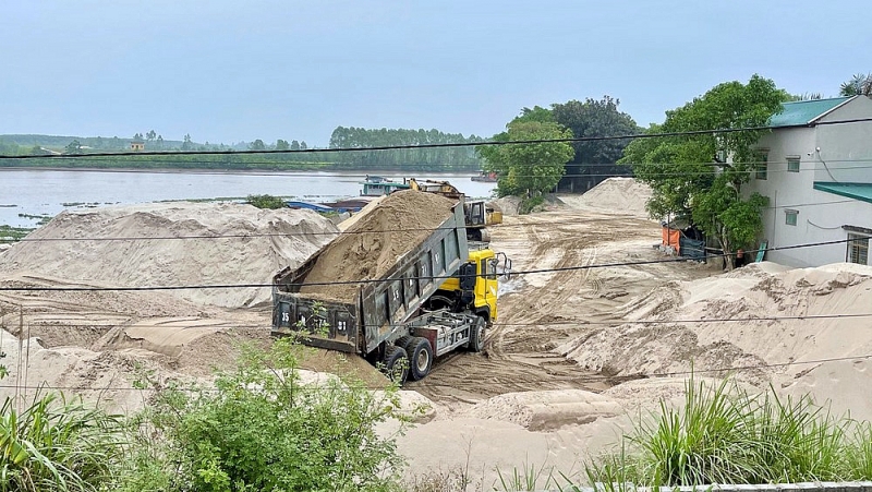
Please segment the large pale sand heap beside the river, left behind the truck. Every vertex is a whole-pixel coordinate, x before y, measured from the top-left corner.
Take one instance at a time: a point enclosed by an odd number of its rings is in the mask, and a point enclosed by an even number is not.
[[[68,211],[28,236],[33,241],[7,251],[0,276],[49,276],[113,287],[269,284],[276,272],[305,261],[337,230],[311,211],[230,203]],[[194,239],[166,239],[180,237]],[[226,308],[270,298],[268,287],[172,293]]]

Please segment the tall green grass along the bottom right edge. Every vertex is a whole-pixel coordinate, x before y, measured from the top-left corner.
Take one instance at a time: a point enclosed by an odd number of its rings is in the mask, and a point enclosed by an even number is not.
[[[662,403],[640,419],[620,453],[588,465],[591,483],[705,485],[865,480],[872,476],[872,427],[833,416],[803,396],[772,388],[749,394],[735,382],[685,386],[679,408]]]

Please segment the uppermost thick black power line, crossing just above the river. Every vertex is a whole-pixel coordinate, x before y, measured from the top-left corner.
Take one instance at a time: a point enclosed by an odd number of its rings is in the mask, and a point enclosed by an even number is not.
[[[829,125],[829,124],[847,124],[847,123],[862,123],[872,121],[872,118],[855,118],[848,120],[837,121],[822,121],[814,125]],[[542,143],[580,143],[580,142],[600,142],[611,140],[629,140],[629,139],[658,139],[670,136],[695,136],[708,135],[720,133],[737,133],[747,131],[766,131],[790,128],[808,128],[809,124],[792,124],[784,127],[743,127],[735,129],[712,129],[712,130],[692,130],[681,132],[661,132],[661,133],[634,133],[627,135],[608,135],[608,136],[573,136],[566,139],[542,139],[542,140],[516,140],[516,141],[485,141],[485,142],[467,142],[467,143],[438,143],[438,144],[409,144],[409,145],[377,145],[370,147],[336,147],[336,148],[304,148],[304,149],[287,149],[287,151],[194,151],[194,152],[156,152],[156,151],[141,151],[141,152],[116,152],[116,153],[93,153],[93,154],[69,154],[69,155],[0,155],[2,159],[24,160],[24,159],[70,159],[83,157],[116,157],[116,156],[162,156],[162,155],[270,155],[270,154],[313,154],[313,153],[342,153],[342,152],[367,152],[367,151],[395,151],[395,149],[414,149],[414,148],[451,148],[451,147],[483,147],[494,145],[529,145]]]

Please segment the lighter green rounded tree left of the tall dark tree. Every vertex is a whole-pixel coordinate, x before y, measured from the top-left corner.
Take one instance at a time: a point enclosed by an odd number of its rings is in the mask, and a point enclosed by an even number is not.
[[[540,108],[541,109],[541,108]],[[497,142],[570,139],[572,133],[553,121],[543,121],[542,111],[524,109],[521,116],[494,135]],[[541,203],[542,194],[557,185],[572,158],[572,146],[565,142],[488,145],[479,147],[484,169],[496,172],[497,195],[522,196]],[[525,208],[532,208],[532,205]]]

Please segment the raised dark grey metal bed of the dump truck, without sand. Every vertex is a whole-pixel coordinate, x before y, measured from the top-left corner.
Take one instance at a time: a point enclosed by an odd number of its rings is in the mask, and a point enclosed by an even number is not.
[[[383,204],[390,205],[392,196]],[[307,345],[362,355],[393,338],[395,332],[419,314],[421,305],[467,261],[462,205],[450,206],[448,218],[432,229],[426,235],[413,235],[423,239],[403,244],[404,251],[383,275],[350,280],[343,289],[317,289],[307,284],[325,251],[332,251],[332,242],[299,267],[279,272],[272,283],[272,333],[298,335]],[[342,296],[325,295],[337,291]]]

